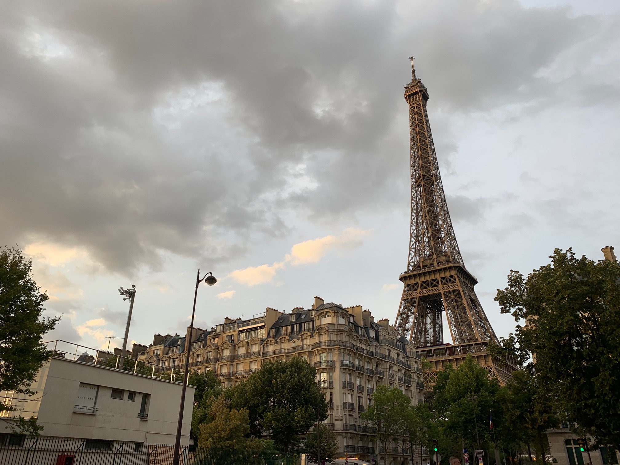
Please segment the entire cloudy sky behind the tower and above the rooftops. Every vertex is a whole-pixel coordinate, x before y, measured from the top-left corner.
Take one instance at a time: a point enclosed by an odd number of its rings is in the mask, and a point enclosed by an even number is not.
[[[620,247],[616,0],[100,0],[0,6],[0,239],[89,347],[315,295],[396,316],[407,57],[498,335],[510,269]],[[113,345],[120,342],[114,341]]]

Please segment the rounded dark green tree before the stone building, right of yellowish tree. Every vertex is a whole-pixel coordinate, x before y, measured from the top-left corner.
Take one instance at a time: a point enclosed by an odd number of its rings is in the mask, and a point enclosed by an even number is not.
[[[247,407],[252,434],[270,430],[275,444],[284,452],[299,443],[299,435],[310,429],[317,418],[327,418],[327,402],[319,392],[316,370],[307,361],[293,357],[289,361],[263,363],[245,383],[234,387],[232,405]]]

